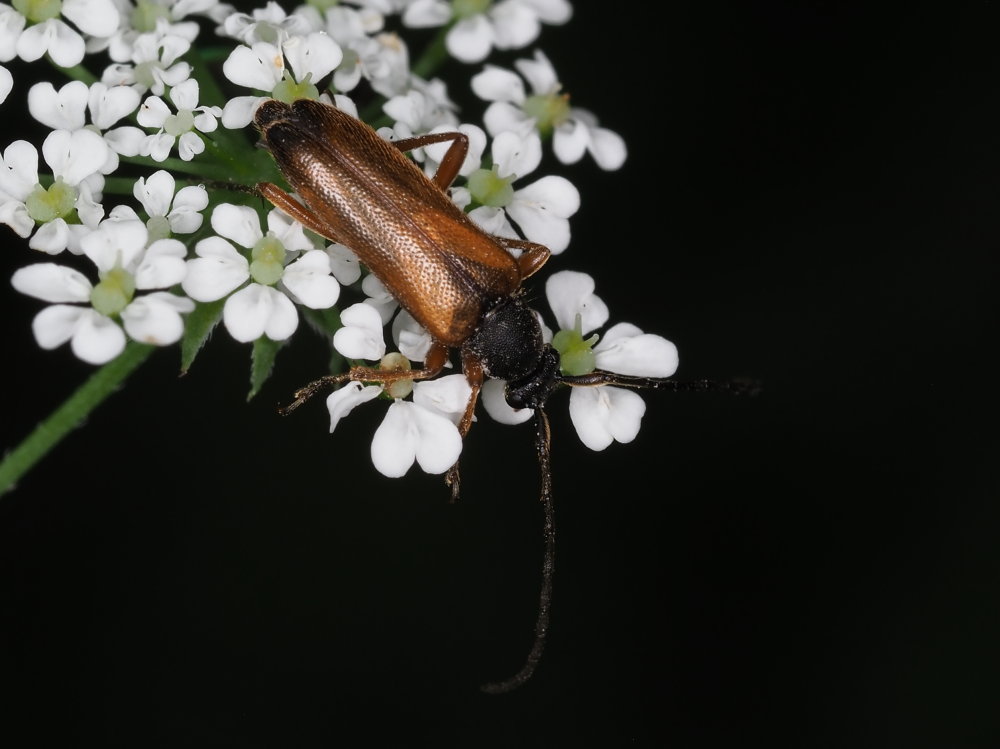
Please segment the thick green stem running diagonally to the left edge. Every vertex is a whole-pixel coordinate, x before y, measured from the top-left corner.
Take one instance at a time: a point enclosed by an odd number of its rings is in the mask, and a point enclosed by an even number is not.
[[[154,347],[129,342],[125,350],[90,376],[49,418],[35,427],[20,445],[0,462],[0,495],[13,489],[17,481],[76,429],[87,416],[153,353]]]

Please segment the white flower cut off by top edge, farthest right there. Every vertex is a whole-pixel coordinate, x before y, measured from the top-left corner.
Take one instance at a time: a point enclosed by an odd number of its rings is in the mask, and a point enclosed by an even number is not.
[[[541,24],[566,23],[572,15],[568,0],[501,0],[457,16],[457,4],[446,0],[413,0],[403,11],[403,24],[411,27],[444,26],[456,18],[445,36],[448,52],[462,62],[480,62],[490,50],[519,49],[531,44]]]

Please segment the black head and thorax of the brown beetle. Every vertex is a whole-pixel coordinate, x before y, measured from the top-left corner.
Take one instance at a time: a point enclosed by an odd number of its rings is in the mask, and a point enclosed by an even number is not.
[[[500,299],[462,346],[490,377],[507,381],[513,408],[542,405],[556,386],[559,354],[542,338],[533,310],[519,297]]]

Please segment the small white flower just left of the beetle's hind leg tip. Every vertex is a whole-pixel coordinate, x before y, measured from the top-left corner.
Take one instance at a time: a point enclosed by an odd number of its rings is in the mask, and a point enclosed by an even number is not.
[[[173,175],[160,169],[149,175],[149,179],[140,177],[132,188],[132,194],[149,217],[146,228],[154,239],[171,234],[192,234],[201,228],[201,211],[208,207],[208,191],[202,185],[188,185],[174,195],[175,187]],[[139,219],[127,205],[115,206],[110,216]]]

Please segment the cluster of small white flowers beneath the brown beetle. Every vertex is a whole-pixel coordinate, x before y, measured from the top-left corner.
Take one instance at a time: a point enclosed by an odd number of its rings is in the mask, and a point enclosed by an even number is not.
[[[193,357],[221,325],[253,344],[255,357],[274,357],[306,317],[350,362],[421,365],[430,335],[351,249],[278,209],[265,212],[247,189],[261,175],[281,181],[248,125],[265,100],[314,98],[355,117],[368,112],[361,118],[388,140],[461,131],[470,148],[453,201],[486,232],[515,240],[511,247],[531,242],[561,253],[580,196],[566,177],[537,174],[545,149],[563,164],[589,154],[614,170],[624,142],[569,105],[541,50],[518,59],[516,71],[481,63],[493,50],[527,48],[543,24],[571,15],[567,0],[345,0],[291,12],[269,2],[249,13],[215,0],[0,4],[0,62],[54,63],[26,92],[47,133],[38,144],[4,144],[0,168],[0,223],[44,256],[12,279],[50,305],[32,323],[38,344],[69,343],[95,365],[123,355],[129,340],[181,343]],[[411,65],[406,32],[432,27],[469,64],[481,124],[459,117],[444,81],[414,72],[425,67]],[[204,62],[213,56],[223,60],[223,79]],[[0,102],[18,85],[0,65]],[[411,156],[431,176],[448,145]],[[546,286],[557,332],[545,334],[563,371],[673,374],[673,345],[634,326],[584,339],[608,319],[593,290],[589,276],[570,271]],[[386,327],[395,352],[386,353]],[[461,450],[470,392],[457,372],[388,387],[349,383],[329,397],[330,429],[358,404],[387,400],[372,443],[376,468],[399,476],[415,461],[441,473]],[[504,423],[531,415],[511,409],[496,380],[482,403]],[[633,439],[643,410],[634,392],[610,386],[570,397],[577,431],[595,450]]]

